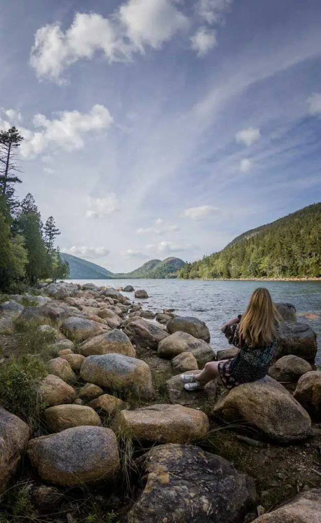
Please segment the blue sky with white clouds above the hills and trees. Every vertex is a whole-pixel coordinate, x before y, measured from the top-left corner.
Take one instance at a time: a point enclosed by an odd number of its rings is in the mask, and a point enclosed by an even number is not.
[[[320,200],[319,0],[1,10],[0,127],[65,252],[193,260]]]

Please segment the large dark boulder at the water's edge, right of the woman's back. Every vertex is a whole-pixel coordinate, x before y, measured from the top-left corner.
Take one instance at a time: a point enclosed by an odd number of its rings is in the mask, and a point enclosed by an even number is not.
[[[316,334],[305,323],[281,322],[276,357],[294,354],[314,363],[317,353]]]

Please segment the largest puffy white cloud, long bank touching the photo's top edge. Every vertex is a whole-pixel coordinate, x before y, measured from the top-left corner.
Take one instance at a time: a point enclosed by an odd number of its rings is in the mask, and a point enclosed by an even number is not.
[[[109,63],[128,62],[145,46],[159,49],[163,42],[189,26],[176,0],[128,0],[109,18],[96,13],[77,13],[63,32],[58,23],[41,27],[35,34],[30,65],[39,78],[62,83],[63,70],[80,59],[104,54]]]

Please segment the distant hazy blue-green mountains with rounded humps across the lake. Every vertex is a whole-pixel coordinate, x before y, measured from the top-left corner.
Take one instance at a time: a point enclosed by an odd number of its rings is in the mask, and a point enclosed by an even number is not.
[[[150,260],[138,269],[127,273],[114,274],[104,267],[100,267],[71,254],[61,253],[63,261],[68,261],[70,267],[69,278],[73,280],[112,280],[126,278],[176,278],[178,271],[185,265],[180,258],[166,258],[164,260]]]

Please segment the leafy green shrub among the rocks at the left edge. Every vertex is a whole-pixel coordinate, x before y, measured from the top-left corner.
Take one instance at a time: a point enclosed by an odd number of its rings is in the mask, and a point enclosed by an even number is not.
[[[47,373],[42,359],[28,354],[0,365],[0,404],[32,429],[38,429],[41,424],[45,405],[38,388]]]

